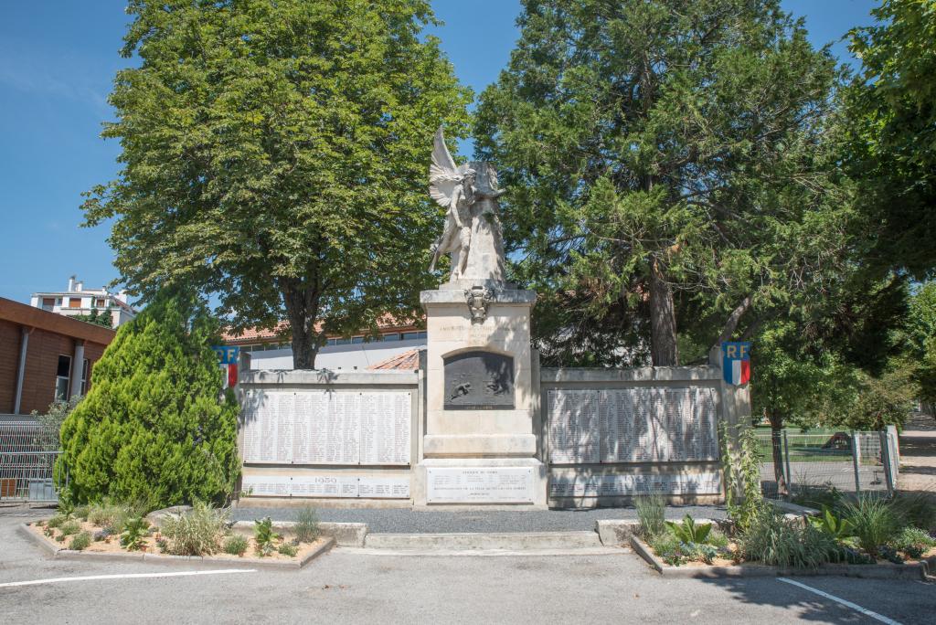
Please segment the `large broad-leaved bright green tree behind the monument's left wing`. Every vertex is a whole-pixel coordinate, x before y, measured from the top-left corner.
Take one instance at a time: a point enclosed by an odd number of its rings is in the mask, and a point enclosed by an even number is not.
[[[84,204],[113,219],[131,292],[180,284],[235,328],[285,318],[294,365],[325,332],[417,311],[442,215],[431,137],[466,129],[470,93],[426,0],[131,0],[110,94],[117,180]],[[323,326],[318,326],[323,322]]]

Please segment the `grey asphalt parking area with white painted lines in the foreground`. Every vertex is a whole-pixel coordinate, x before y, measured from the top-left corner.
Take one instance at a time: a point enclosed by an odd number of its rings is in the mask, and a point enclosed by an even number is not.
[[[922,624],[931,623],[936,614],[936,585],[922,581],[794,578],[808,588],[803,589],[776,578],[665,579],[623,551],[620,556],[483,558],[373,555],[336,548],[298,572],[252,573],[221,572],[249,566],[219,571],[52,560],[17,533],[23,520],[0,511],[4,623],[773,624],[874,623],[883,618]],[[190,572],[211,574],[179,576]],[[157,576],[126,576],[139,574]],[[101,575],[109,577],[95,578]],[[45,581],[76,576],[86,579]],[[3,586],[23,581],[41,583]]]

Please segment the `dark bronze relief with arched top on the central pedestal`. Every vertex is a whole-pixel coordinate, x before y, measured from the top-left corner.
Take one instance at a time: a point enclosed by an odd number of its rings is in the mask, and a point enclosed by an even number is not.
[[[446,410],[513,410],[514,359],[493,352],[445,358]]]

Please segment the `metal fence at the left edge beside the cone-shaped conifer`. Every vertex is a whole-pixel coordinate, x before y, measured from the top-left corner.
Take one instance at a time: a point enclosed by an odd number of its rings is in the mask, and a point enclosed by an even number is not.
[[[58,501],[52,476],[58,430],[35,421],[0,421],[0,501]]]

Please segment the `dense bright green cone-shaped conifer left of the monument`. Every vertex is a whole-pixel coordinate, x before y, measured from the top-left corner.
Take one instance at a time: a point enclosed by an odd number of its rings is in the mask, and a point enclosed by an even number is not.
[[[120,328],[62,424],[56,472],[76,501],[160,507],[232,492],[238,405],[222,390],[217,330],[205,307],[162,294]]]

